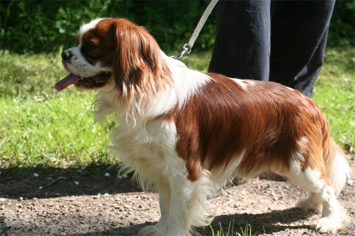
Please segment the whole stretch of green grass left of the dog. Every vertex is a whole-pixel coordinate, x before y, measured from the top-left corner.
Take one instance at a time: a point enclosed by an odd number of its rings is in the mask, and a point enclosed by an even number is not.
[[[94,124],[94,91],[57,92],[67,73],[59,55],[15,55],[0,51],[0,162],[14,167],[79,167],[117,162],[110,155],[109,126]]]

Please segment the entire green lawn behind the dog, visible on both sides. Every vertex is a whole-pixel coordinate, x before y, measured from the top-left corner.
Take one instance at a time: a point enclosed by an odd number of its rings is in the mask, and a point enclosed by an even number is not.
[[[0,167],[80,167],[117,163],[108,130],[89,112],[95,91],[54,84],[67,73],[57,54],[17,55],[0,51]],[[174,53],[170,55],[175,55]],[[210,52],[185,56],[189,67],[206,71]],[[332,137],[353,155],[355,147],[354,50],[327,51],[313,98],[330,123]],[[22,169],[22,170],[23,170]],[[21,169],[20,169],[21,170]]]

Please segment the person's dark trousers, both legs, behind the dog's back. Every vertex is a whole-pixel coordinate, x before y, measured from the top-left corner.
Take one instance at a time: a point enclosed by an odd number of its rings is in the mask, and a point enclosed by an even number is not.
[[[273,81],[311,96],[321,71],[331,1],[220,1],[209,71]]]

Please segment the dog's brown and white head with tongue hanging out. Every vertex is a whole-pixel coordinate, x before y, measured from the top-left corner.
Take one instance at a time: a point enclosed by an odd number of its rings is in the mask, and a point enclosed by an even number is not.
[[[124,18],[82,25],[76,44],[61,54],[70,74],[56,84],[58,91],[72,84],[89,90],[111,86],[131,100],[145,90],[155,91],[161,77],[170,74],[154,38]]]

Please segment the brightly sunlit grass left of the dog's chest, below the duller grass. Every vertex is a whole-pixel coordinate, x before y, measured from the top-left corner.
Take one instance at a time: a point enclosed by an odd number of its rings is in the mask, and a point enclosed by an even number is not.
[[[68,95],[44,101],[0,99],[2,167],[80,166],[104,162],[108,135],[93,124],[92,97]]]

